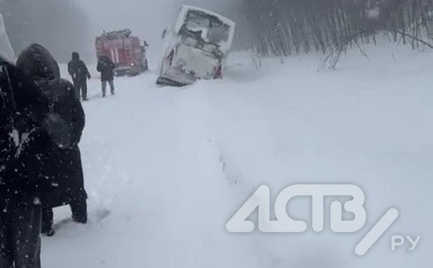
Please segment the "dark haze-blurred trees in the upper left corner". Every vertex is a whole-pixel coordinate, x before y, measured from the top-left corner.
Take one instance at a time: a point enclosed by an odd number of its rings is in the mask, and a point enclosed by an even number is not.
[[[40,43],[64,62],[85,44],[88,19],[75,1],[0,0],[0,12],[16,52]]]

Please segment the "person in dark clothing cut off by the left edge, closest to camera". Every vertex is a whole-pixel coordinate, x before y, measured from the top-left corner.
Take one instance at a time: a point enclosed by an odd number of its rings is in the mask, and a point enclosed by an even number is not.
[[[41,199],[55,186],[46,153],[70,140],[67,122],[22,71],[0,58],[1,268],[40,267]]]

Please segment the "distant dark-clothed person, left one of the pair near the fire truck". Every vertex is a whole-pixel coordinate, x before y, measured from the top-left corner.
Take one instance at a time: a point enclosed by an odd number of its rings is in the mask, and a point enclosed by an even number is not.
[[[88,72],[86,63],[80,60],[78,52],[72,52],[72,60],[68,63],[68,72],[74,82],[76,96],[83,101],[87,101],[87,79],[91,79],[91,74]]]

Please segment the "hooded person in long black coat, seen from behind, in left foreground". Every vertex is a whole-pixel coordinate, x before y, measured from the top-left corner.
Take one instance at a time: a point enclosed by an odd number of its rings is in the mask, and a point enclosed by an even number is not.
[[[53,207],[69,204],[72,219],[79,223],[87,222],[87,194],[78,146],[85,116],[74,86],[60,79],[59,66],[45,48],[31,45],[18,57],[16,66],[32,77],[50,100],[52,110],[67,121],[67,144],[50,143],[45,157],[46,173],[57,188],[42,198],[42,233],[53,235]]]

